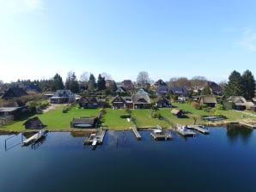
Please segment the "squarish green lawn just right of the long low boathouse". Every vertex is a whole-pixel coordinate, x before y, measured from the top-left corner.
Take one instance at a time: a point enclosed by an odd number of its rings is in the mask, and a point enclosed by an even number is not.
[[[102,126],[107,129],[123,130],[133,126],[132,122],[128,122],[126,118],[121,118],[121,115],[127,114],[125,110],[105,109],[106,114],[101,118]]]

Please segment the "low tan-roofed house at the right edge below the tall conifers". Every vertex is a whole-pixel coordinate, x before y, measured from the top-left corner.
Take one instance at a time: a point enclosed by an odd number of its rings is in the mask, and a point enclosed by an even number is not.
[[[231,96],[228,98],[229,103],[233,103],[233,108],[238,111],[244,110],[253,110],[254,111],[254,104],[252,101],[247,101],[242,96]]]

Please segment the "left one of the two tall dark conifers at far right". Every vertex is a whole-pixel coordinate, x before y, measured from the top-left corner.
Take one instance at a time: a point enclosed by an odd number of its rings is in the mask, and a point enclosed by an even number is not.
[[[241,96],[243,92],[241,74],[237,71],[233,71],[229,75],[229,82],[224,87],[224,95],[229,96]]]

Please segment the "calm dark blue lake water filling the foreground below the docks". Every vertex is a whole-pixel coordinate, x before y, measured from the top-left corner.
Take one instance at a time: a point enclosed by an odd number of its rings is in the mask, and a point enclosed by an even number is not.
[[[9,135],[1,135],[0,191],[256,191],[255,130],[210,128],[187,140],[173,133],[173,141],[141,135],[107,131],[95,150],[70,133],[48,133],[34,149],[15,146],[16,135],[7,151]]]

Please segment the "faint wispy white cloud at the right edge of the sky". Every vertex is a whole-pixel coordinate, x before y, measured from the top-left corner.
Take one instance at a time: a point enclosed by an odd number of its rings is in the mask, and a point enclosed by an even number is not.
[[[238,44],[248,51],[256,51],[256,30],[243,29],[242,39]]]

